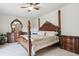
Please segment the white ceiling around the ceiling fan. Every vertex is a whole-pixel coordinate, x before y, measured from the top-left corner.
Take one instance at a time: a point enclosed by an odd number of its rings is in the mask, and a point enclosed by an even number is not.
[[[0,3],[0,15],[34,18],[66,5],[68,5],[68,3],[40,3],[40,9],[38,11],[32,10],[28,13],[27,9],[20,8],[21,6],[25,6],[25,3]]]

